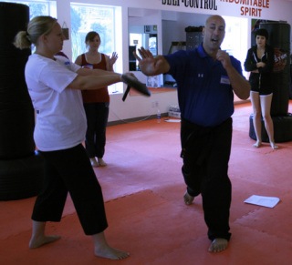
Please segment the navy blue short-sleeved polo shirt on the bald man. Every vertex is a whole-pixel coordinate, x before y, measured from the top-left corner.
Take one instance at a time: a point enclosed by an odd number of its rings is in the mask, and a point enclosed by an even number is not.
[[[208,56],[203,46],[164,56],[178,85],[181,117],[203,126],[214,127],[234,113],[234,92],[222,63]],[[230,56],[242,74],[240,61]]]

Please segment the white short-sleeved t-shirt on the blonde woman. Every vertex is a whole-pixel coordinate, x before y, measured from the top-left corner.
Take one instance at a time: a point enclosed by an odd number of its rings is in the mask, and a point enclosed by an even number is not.
[[[34,138],[41,151],[73,148],[87,128],[81,91],[70,89],[80,66],[63,56],[33,54],[26,63],[26,85],[36,110]]]

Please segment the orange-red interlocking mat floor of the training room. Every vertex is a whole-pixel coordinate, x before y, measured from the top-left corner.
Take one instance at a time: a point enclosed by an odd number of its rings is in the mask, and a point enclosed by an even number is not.
[[[289,103],[289,112],[292,102]],[[93,254],[71,199],[64,217],[48,223],[61,240],[28,249],[31,211],[36,198],[0,201],[0,264],[5,265],[289,265],[292,264],[292,142],[253,148],[249,138],[250,103],[235,106],[229,163],[233,184],[232,238],[221,253],[207,251],[210,241],[202,200],[183,203],[180,124],[146,120],[108,127],[105,161],[95,168],[103,190],[110,245],[130,252],[126,260]],[[246,204],[252,195],[278,197],[274,208]]]

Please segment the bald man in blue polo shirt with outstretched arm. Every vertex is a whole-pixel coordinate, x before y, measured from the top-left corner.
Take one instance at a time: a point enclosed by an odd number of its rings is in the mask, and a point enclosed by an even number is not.
[[[250,91],[240,62],[220,48],[224,35],[224,18],[212,15],[206,20],[203,44],[198,48],[153,57],[141,47],[140,56],[135,55],[146,76],[168,73],[177,82],[182,172],[187,186],[183,199],[190,205],[194,197],[202,195],[204,220],[212,240],[210,252],[225,250],[231,237],[231,116],[234,93],[246,99]]]

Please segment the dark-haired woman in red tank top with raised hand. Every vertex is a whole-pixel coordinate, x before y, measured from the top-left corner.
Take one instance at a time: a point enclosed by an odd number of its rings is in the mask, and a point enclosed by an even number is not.
[[[103,69],[113,72],[113,65],[118,59],[114,52],[107,56],[99,52],[100,36],[95,31],[90,31],[85,37],[89,50],[77,57],[75,63],[93,69]],[[85,148],[89,154],[92,167],[105,167],[107,163],[103,156],[106,146],[106,128],[110,111],[110,95],[108,87],[99,90],[82,91],[84,108],[88,121]]]

